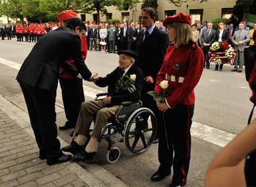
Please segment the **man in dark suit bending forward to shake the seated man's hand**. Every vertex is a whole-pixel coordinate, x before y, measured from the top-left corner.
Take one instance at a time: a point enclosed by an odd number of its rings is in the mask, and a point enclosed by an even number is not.
[[[82,20],[72,18],[66,28],[46,34],[35,44],[17,74],[40,149],[40,159],[47,159],[49,165],[70,160],[70,156],[62,153],[57,138],[55,100],[59,67],[70,68],[71,65],[64,62],[72,57],[83,79],[96,81],[98,78],[96,73],[88,70],[81,55],[80,38],[85,29]],[[79,74],[73,71],[75,68],[70,70],[76,76]]]

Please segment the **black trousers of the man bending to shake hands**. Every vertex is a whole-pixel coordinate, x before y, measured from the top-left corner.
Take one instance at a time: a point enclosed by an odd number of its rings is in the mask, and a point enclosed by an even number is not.
[[[36,143],[40,149],[40,154],[45,154],[47,159],[59,157],[62,153],[60,143],[57,138],[55,112],[55,93],[50,93],[45,89],[38,89],[20,82],[30,123],[35,133]]]

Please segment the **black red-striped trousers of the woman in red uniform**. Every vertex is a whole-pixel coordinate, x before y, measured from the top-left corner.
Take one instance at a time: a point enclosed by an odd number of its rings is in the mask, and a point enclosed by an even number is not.
[[[177,105],[164,113],[165,125],[158,124],[160,169],[170,172],[173,165],[172,183],[176,185],[185,185],[189,172],[193,114],[194,105]]]

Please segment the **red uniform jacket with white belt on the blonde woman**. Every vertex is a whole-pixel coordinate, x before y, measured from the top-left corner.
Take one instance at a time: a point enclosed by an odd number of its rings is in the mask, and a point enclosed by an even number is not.
[[[162,93],[159,86],[163,80],[168,80],[166,102],[171,108],[179,104],[194,105],[194,88],[197,85],[204,66],[203,51],[195,43],[189,43],[176,48],[170,44],[164,56],[163,65],[156,78],[155,92]]]

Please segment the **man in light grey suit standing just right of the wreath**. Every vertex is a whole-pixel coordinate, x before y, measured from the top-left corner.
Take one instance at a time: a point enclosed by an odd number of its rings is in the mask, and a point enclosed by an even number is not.
[[[235,31],[231,41],[234,44],[234,51],[236,52],[236,59],[234,69],[231,71],[242,72],[244,66],[244,48],[247,46],[247,42],[250,41],[249,31],[244,29],[244,23],[239,23],[239,30]],[[239,69],[237,67],[239,65]]]

